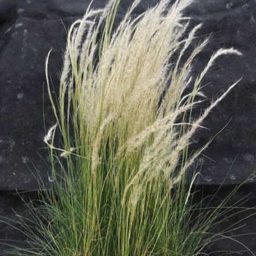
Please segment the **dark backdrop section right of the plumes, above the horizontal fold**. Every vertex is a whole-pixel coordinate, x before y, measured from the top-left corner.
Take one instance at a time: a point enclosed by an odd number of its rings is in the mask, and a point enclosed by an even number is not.
[[[200,55],[200,63],[205,63],[212,51],[220,47],[234,47],[243,53],[242,57],[221,57],[205,77],[204,83],[209,85],[204,92],[209,98],[224,92],[240,77],[242,81],[207,118],[205,126],[210,131],[199,133],[199,144],[203,144],[230,121],[205,152],[212,160],[204,158],[201,182],[207,183],[205,177],[210,177],[212,183],[220,184],[230,169],[231,176],[225,183],[240,183],[256,170],[256,3],[199,2],[189,8],[188,14],[195,22],[203,22],[200,35],[212,33],[212,41]]]

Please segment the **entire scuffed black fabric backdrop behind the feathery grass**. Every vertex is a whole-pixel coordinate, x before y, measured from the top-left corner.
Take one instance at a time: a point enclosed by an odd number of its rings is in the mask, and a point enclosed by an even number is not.
[[[50,169],[43,144],[46,129],[54,124],[44,75],[47,52],[52,48],[49,70],[53,85],[58,88],[66,32],[72,21],[84,14],[88,0],[0,0],[0,214],[12,218],[11,208],[22,212],[22,200],[15,190],[38,189],[36,177],[49,183]],[[130,0],[121,0],[117,19],[120,19]],[[158,0],[142,0],[134,15]],[[94,7],[106,1],[94,0]],[[191,26],[203,23],[198,40],[211,35],[212,40],[195,63],[195,76],[220,47],[234,47],[242,57],[224,56],[205,76],[205,95],[220,96],[229,85],[242,77],[206,119],[195,137],[200,147],[214,137],[197,162],[201,167],[199,186],[204,194],[214,193],[222,184],[220,197],[230,188],[241,184],[255,172],[256,149],[256,1],[254,0],[197,0],[186,10]],[[200,111],[200,109],[198,110]],[[250,179],[237,193],[239,200],[251,193],[249,207],[256,206],[256,179]],[[243,222],[243,233],[256,232],[255,217]],[[230,225],[229,222],[227,225]],[[0,223],[0,238],[24,240],[24,237]],[[242,238],[256,253],[256,236]],[[218,246],[228,246],[224,240]],[[234,249],[233,243],[230,248]],[[236,246],[238,246],[236,244]],[[0,246],[1,248],[1,246]],[[238,246],[237,250],[241,250]],[[1,249],[0,249],[1,251]],[[243,253],[242,255],[247,255]],[[251,254],[248,254],[251,255]]]

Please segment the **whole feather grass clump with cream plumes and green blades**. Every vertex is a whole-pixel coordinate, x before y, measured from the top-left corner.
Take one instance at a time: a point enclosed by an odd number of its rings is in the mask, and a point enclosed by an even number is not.
[[[187,148],[238,81],[193,122],[191,113],[214,61],[241,53],[219,49],[193,79],[193,61],[209,38],[183,61],[201,27],[188,32],[183,11],[191,2],[162,0],[132,18],[135,0],[115,29],[118,0],[89,6],[69,29],[57,99],[49,52],[56,125],[44,142],[53,183],[31,213],[32,249],[19,255],[203,255],[221,207],[192,221],[185,175],[208,144],[192,155]]]

